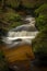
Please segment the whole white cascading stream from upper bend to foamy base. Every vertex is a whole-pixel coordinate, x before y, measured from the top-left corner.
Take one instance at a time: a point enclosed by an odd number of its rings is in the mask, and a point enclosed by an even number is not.
[[[35,17],[27,15],[24,21],[26,22],[26,24],[10,29],[8,36],[3,37],[2,40],[10,47],[25,43],[31,44],[32,39],[37,35],[38,31],[35,27]],[[21,42],[17,40],[20,38],[22,39]]]

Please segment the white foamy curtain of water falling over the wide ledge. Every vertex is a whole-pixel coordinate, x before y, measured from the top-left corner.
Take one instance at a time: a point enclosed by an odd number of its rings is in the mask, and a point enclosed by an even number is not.
[[[9,37],[10,38],[16,38],[16,37],[33,37],[36,36],[38,32],[26,32],[26,31],[22,31],[22,32],[10,32],[9,33]]]

